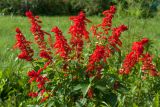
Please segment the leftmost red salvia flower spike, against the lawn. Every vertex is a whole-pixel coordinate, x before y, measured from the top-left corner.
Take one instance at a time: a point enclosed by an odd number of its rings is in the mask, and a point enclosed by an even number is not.
[[[25,59],[26,61],[31,61],[34,55],[33,49],[31,49],[31,42],[27,41],[19,28],[16,28],[16,44],[14,48],[19,48],[21,53],[18,55],[19,59]]]

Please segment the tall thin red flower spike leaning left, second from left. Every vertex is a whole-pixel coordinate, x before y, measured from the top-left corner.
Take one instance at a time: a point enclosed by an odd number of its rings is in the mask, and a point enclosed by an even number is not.
[[[26,16],[31,21],[32,26],[30,28],[30,31],[34,35],[34,39],[40,48],[40,57],[51,59],[50,52],[47,49],[46,42],[44,40],[44,35],[46,34],[46,35],[48,35],[48,40],[50,43],[51,42],[51,35],[41,29],[41,26],[39,24],[42,22],[38,16],[33,16],[31,11],[26,12]],[[45,53],[45,56],[44,56],[44,53]],[[43,55],[41,55],[41,54],[43,54]],[[48,57],[48,56],[50,56],[50,57]]]

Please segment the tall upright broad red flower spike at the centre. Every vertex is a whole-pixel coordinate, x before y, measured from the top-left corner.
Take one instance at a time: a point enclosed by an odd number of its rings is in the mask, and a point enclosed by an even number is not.
[[[73,25],[69,28],[71,34],[70,43],[72,48],[76,50],[77,57],[80,57],[83,49],[83,38],[89,40],[89,33],[86,30],[86,22],[90,22],[83,12],[80,12],[78,16],[70,17],[73,21]]]

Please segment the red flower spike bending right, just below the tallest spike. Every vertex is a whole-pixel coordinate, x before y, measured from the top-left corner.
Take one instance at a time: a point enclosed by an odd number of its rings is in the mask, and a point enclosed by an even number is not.
[[[128,28],[125,25],[121,25],[117,28],[113,28],[112,29],[112,36],[108,37],[109,45],[114,47],[117,51],[120,51],[120,49],[117,47],[117,45],[120,47],[122,46],[122,42],[119,39],[119,37],[120,37],[121,33],[127,29]]]

